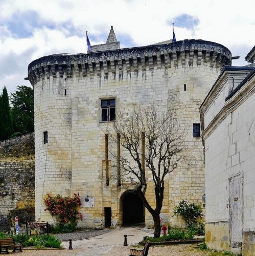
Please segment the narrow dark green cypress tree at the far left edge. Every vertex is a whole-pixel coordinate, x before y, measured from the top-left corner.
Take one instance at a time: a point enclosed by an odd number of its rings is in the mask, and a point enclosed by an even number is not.
[[[3,89],[3,93],[1,96],[1,110],[0,110],[0,122],[1,122],[1,133],[0,140],[6,140],[11,138],[13,132],[13,123],[11,116],[11,109],[9,104],[9,98],[6,87]]]

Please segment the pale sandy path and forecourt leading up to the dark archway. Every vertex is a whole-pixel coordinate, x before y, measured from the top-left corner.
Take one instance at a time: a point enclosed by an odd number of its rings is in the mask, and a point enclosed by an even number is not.
[[[73,241],[73,250],[68,250],[69,242],[63,242],[66,250],[24,250],[22,256],[128,256],[129,251],[145,236],[153,236],[146,232],[142,225],[110,229],[107,233],[96,237]],[[128,246],[123,246],[124,234],[127,234]],[[193,248],[194,245],[151,246],[149,256],[205,256],[209,252]],[[142,249],[138,248],[138,249]],[[15,252],[13,254],[17,254]],[[20,255],[21,256],[21,255]]]

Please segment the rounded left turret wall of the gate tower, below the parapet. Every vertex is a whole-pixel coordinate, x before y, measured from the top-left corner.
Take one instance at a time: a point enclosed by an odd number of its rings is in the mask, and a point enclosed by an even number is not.
[[[63,78],[41,79],[34,86],[35,100],[35,214],[36,221],[51,221],[43,199],[71,195],[71,95]],[[48,143],[44,143],[44,132]],[[43,195],[43,196],[42,196]]]

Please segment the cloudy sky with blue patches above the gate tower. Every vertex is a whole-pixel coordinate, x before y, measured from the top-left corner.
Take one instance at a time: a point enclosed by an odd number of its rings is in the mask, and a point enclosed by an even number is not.
[[[174,22],[176,40],[218,42],[240,55],[233,65],[246,65],[254,9],[254,0],[0,0],[0,88],[29,85],[36,58],[86,52],[86,31],[91,45],[104,43],[111,25],[125,48],[171,39]]]

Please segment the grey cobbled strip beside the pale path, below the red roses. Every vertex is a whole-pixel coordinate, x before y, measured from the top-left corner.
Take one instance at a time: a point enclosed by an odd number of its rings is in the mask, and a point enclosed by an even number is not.
[[[110,231],[109,228],[105,228],[105,229],[99,229],[99,230],[83,230],[83,231],[72,232],[72,233],[54,234],[54,236],[62,241],[68,241],[69,239],[72,239],[73,241],[75,241],[75,240],[81,240],[81,239],[99,236],[100,234],[104,234],[109,231]]]

